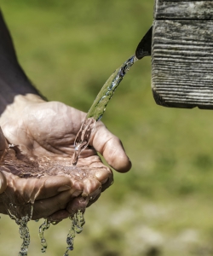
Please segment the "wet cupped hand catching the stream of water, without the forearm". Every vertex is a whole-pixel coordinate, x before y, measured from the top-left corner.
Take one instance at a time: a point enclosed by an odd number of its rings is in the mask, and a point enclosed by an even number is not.
[[[18,145],[22,154],[69,160],[84,117],[85,113],[60,102],[44,102],[35,95],[16,96],[14,103],[4,111],[0,125],[9,143]],[[101,122],[97,123],[89,146],[82,152],[78,166],[92,169],[93,178],[85,179],[83,183],[69,177],[27,178],[26,182],[24,178],[3,172],[7,179],[13,180],[8,182],[10,189],[17,186],[19,191],[22,187],[19,192],[25,195],[25,201],[34,195],[33,218],[66,218],[73,214],[75,207],[85,207],[90,197],[93,200],[89,204],[95,201],[101,195],[100,188],[104,190],[110,186],[112,171],[101,163],[96,151],[118,172],[130,170],[130,160],[118,137],[107,131]],[[21,183],[26,183],[26,186]],[[60,191],[61,187],[65,191]],[[78,195],[87,200],[79,199]],[[0,211],[3,212],[2,207]]]

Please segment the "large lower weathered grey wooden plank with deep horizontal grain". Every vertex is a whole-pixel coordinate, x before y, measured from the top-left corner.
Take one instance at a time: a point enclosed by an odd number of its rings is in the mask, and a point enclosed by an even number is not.
[[[213,20],[155,20],[152,88],[166,107],[213,109]]]

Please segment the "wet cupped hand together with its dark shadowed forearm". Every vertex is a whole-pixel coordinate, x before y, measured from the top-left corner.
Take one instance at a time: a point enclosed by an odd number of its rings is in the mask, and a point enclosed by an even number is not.
[[[88,166],[92,177],[83,182],[74,177],[18,177],[20,167],[3,165],[8,144],[14,161],[20,155],[28,159],[48,157],[51,160],[70,160],[73,142],[85,113],[60,102],[46,102],[26,77],[17,60],[9,29],[0,12],[0,212],[7,214],[3,204],[6,192],[9,201],[20,204],[34,201],[32,218],[60,220],[89,206],[112,183],[112,171],[101,163],[97,152],[118,172],[130,170],[131,163],[118,137],[98,122],[78,166]],[[59,84],[60,85],[60,84]],[[13,151],[14,150],[14,151]],[[11,156],[10,155],[10,156]],[[12,157],[12,156],[11,156]],[[24,167],[26,168],[26,167]],[[56,175],[57,175],[57,171]]]

